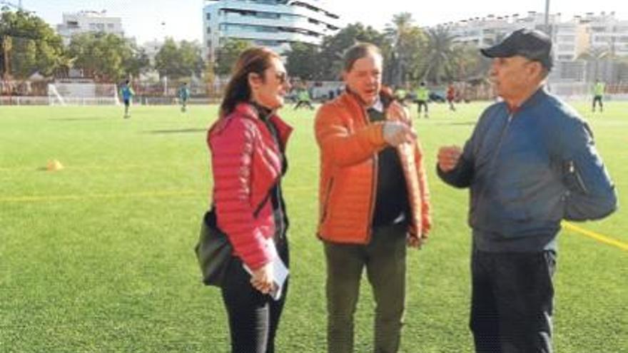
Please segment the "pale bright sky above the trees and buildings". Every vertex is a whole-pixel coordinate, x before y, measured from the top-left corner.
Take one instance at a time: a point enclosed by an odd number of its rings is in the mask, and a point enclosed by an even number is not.
[[[18,0],[4,0],[17,3]],[[527,14],[545,11],[545,0],[331,0],[332,9],[347,22],[360,21],[383,29],[394,14],[410,12],[415,24],[432,26],[470,17]],[[55,27],[64,12],[106,10],[109,16],[122,18],[127,36],[138,43],[171,36],[176,40],[201,40],[203,37],[203,0],[22,0],[23,6],[35,11]],[[550,14],[561,13],[562,19],[586,12],[615,11],[628,21],[627,0],[550,0]]]

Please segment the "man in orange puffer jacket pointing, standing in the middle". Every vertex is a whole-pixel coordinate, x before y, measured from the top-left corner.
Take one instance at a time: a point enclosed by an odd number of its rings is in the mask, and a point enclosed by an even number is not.
[[[327,261],[328,352],[353,352],[353,312],[366,267],[375,295],[375,352],[397,352],[405,309],[406,244],[430,231],[422,152],[410,118],[382,90],[372,44],[345,54],[347,90],[316,116],[320,221]]]

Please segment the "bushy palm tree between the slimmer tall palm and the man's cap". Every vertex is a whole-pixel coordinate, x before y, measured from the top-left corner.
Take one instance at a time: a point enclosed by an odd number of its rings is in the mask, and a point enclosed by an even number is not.
[[[422,73],[422,81],[430,78],[435,83],[440,83],[440,78],[450,73],[451,66],[455,62],[454,40],[456,36],[451,34],[446,26],[437,26],[427,29],[427,48],[425,50],[425,71]]]

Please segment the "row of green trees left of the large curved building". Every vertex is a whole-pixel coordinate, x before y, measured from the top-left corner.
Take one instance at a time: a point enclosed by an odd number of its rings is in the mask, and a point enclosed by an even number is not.
[[[118,82],[155,70],[168,78],[200,77],[206,64],[193,41],[166,39],[151,63],[146,51],[114,34],[83,33],[64,45],[59,34],[28,11],[0,9],[0,78],[34,73],[66,77],[74,68],[100,82]]]

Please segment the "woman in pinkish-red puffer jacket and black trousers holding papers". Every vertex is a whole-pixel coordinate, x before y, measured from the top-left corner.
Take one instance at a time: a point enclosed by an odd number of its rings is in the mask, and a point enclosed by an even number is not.
[[[288,168],[285,145],[292,131],[275,111],[289,89],[276,53],[268,48],[244,51],[233,69],[220,118],[208,132],[216,222],[234,249],[221,288],[232,352],[275,351],[287,282],[277,293],[273,262],[280,259],[288,266],[281,178]]]

